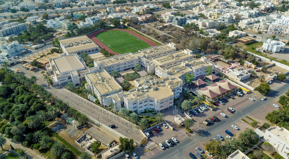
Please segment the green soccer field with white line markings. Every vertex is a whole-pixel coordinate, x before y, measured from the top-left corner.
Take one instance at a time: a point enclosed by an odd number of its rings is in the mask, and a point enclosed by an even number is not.
[[[95,37],[116,53],[135,53],[141,49],[149,48],[150,45],[131,34],[119,30],[101,32]]]

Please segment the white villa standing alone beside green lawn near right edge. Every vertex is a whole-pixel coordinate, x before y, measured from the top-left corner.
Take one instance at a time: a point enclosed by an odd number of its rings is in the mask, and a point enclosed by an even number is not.
[[[263,43],[262,49],[266,51],[271,51],[273,53],[283,52],[285,49],[285,45],[281,41],[276,41],[272,39],[268,39]]]

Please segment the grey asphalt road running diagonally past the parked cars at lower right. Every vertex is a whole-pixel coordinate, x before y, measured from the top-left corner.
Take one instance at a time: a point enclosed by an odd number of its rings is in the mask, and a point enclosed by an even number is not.
[[[278,90],[274,91],[271,90],[267,97],[276,98],[278,96],[283,95],[285,92],[289,89],[288,80],[285,81],[286,84],[282,87],[280,87]],[[270,102],[271,100],[267,98],[266,103]],[[251,113],[252,111],[255,111],[256,109],[265,106],[264,102],[262,100],[257,100],[256,102],[253,102],[252,104],[249,104],[248,106],[240,109],[239,111],[235,112],[237,115],[234,118],[224,118],[222,119],[222,122],[215,122],[214,126],[207,127],[205,129],[197,130],[198,133],[204,134],[205,138],[208,138],[211,136],[212,133],[216,133],[223,129],[224,127],[232,124],[233,122],[240,122],[241,118],[246,116],[247,114]],[[243,114],[242,114],[242,113]],[[152,156],[150,159],[159,159],[159,158],[186,158],[184,156],[184,152],[186,152],[187,149],[193,147],[195,144],[194,140],[191,140],[190,138],[186,138],[183,141],[181,141],[178,146],[170,147],[169,151],[162,151],[154,156]]]

